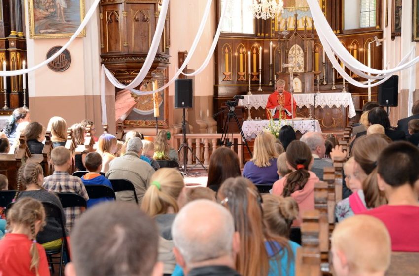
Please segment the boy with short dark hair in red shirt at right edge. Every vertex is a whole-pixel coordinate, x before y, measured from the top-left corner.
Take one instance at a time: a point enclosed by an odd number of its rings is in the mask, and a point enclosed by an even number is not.
[[[408,142],[393,142],[377,160],[377,184],[388,205],[365,214],[384,222],[392,251],[419,252],[419,149]]]

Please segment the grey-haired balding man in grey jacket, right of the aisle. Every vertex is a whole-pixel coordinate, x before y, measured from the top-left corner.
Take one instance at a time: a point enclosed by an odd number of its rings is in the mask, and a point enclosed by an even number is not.
[[[311,171],[315,173],[320,180],[323,180],[323,168],[333,166],[331,162],[323,159],[324,153],[326,152],[323,135],[318,132],[309,131],[301,137],[300,141],[307,144],[312,151],[314,162]]]

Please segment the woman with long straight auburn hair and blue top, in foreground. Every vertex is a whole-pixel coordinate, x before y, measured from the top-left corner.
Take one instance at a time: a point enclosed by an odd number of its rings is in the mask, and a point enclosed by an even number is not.
[[[262,198],[248,179],[229,178],[217,200],[233,215],[240,236],[236,270],[243,276],[294,276],[295,243],[279,236],[263,223]]]

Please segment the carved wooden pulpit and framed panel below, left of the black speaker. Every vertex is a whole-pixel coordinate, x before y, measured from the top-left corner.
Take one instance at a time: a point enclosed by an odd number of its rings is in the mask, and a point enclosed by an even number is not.
[[[116,79],[129,84],[140,72],[150,49],[159,18],[161,0],[101,0],[101,58]],[[170,24],[166,15],[164,33],[153,65],[136,89],[152,90],[152,80],[161,87],[169,75]],[[116,93],[120,91],[117,90]],[[153,95],[132,93],[137,104],[124,121],[125,126],[155,127]],[[168,126],[168,89],[159,92],[158,125]]]

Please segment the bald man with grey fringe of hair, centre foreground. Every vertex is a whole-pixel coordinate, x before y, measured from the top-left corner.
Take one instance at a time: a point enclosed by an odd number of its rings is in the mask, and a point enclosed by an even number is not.
[[[230,212],[210,200],[183,207],[172,225],[176,262],[188,276],[240,276],[234,269],[239,234]]]

